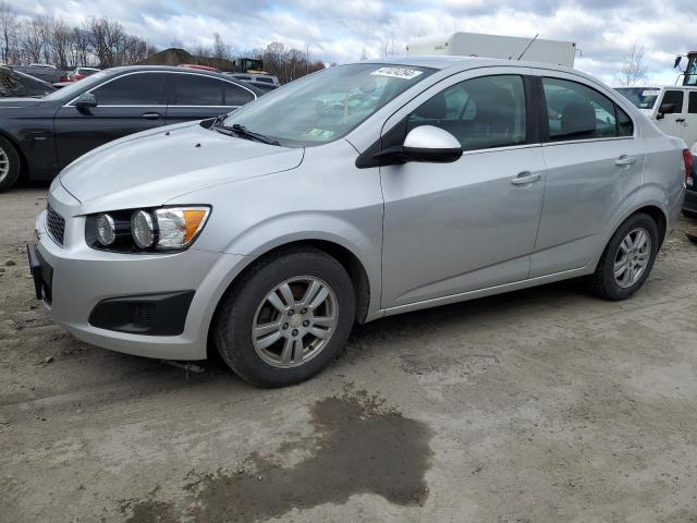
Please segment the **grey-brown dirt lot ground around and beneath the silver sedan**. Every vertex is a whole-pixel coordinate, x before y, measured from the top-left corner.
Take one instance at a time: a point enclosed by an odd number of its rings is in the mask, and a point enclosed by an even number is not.
[[[380,320],[257,390],[54,326],[24,253],[45,193],[0,195],[1,521],[697,521],[682,231],[627,302],[571,281]]]

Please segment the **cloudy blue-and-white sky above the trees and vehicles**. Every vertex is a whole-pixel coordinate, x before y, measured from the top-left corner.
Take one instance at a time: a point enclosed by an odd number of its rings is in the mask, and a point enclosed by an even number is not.
[[[646,48],[650,78],[673,83],[677,53],[697,50],[697,0],[9,0],[20,14],[72,24],[118,19],[159,48],[210,44],[235,49],[277,40],[327,62],[378,58],[386,41],[454,31],[572,40],[576,68],[613,83],[633,45]]]

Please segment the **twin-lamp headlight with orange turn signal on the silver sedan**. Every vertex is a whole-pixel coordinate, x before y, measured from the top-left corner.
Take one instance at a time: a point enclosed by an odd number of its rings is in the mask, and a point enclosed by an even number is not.
[[[204,206],[101,212],[87,217],[85,239],[107,251],[183,251],[200,234],[209,214]]]

